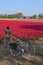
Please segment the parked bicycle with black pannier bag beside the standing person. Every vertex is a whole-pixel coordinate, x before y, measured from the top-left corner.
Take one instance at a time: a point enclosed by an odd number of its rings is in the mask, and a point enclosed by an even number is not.
[[[35,46],[30,42],[26,44],[24,43],[24,45],[17,44],[17,43],[11,43],[9,44],[9,49],[10,49],[10,54],[12,56],[19,56],[26,52],[35,54]]]

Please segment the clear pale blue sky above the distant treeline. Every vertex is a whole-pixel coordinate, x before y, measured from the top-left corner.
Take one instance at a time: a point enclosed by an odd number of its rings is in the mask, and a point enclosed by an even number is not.
[[[43,0],[0,0],[0,14],[43,14]]]

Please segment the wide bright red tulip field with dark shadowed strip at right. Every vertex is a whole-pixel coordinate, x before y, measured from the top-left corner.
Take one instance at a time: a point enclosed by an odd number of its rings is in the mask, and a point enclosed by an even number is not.
[[[0,35],[5,35],[6,27],[9,26],[11,33],[20,37],[43,36],[43,22],[39,21],[16,21],[16,20],[0,20]]]

